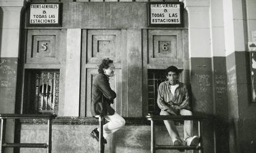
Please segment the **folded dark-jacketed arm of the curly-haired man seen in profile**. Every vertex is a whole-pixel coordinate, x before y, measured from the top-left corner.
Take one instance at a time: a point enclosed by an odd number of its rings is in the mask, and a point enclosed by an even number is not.
[[[103,93],[103,95],[110,100],[113,100],[116,98],[116,93],[110,88],[108,80],[104,78],[103,76],[98,77],[96,85],[100,89],[100,91]]]

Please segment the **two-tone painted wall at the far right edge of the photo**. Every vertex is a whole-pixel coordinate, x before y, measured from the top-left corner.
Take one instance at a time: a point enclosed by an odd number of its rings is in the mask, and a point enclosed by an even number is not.
[[[252,31],[255,30],[252,27],[255,19],[252,6],[255,6],[255,1],[223,1],[229,152],[255,152],[256,107],[252,102],[251,57],[247,48],[247,41],[252,41]]]

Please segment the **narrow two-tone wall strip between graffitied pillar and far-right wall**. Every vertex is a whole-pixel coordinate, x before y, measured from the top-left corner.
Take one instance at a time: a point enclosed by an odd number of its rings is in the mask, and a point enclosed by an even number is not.
[[[215,150],[228,152],[228,98],[224,43],[223,0],[210,1],[211,51],[213,55],[213,111]],[[222,66],[220,66],[222,65]],[[223,134],[226,133],[226,134]]]

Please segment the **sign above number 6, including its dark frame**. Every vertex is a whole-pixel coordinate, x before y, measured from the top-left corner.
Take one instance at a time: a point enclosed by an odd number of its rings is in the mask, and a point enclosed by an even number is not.
[[[148,2],[149,27],[184,27],[183,2]]]

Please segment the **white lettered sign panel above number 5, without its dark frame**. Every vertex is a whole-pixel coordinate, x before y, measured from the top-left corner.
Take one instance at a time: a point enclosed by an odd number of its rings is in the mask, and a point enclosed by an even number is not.
[[[31,4],[30,24],[56,24],[59,22],[59,4]]]

